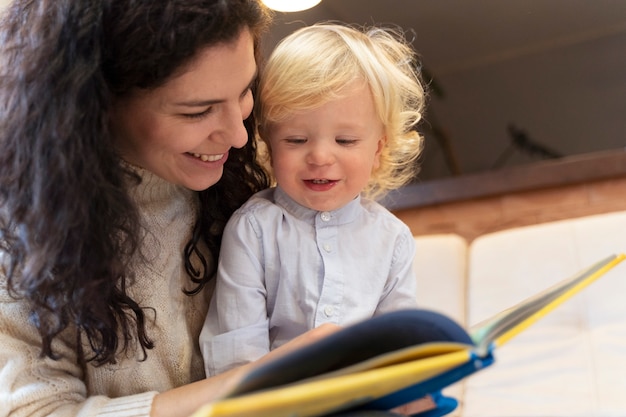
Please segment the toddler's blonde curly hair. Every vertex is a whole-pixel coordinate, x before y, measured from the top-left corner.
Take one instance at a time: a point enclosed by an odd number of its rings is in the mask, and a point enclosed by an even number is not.
[[[255,108],[257,134],[271,160],[266,132],[294,112],[317,108],[364,80],[372,92],[386,142],[380,166],[362,194],[380,198],[418,172],[423,138],[416,130],[425,108],[417,54],[397,28],[319,23],[284,38],[262,71]],[[263,149],[263,147],[260,147]]]

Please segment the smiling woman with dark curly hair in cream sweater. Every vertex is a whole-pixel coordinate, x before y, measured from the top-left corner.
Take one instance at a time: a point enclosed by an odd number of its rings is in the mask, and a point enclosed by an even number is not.
[[[186,416],[241,372],[204,379],[197,338],[223,225],[268,186],[269,22],[255,0],[4,11],[0,415]]]

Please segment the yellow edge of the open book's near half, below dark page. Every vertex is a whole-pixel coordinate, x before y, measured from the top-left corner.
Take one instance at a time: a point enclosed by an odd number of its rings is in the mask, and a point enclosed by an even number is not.
[[[469,349],[286,385],[200,408],[192,417],[313,417],[358,406],[467,363]]]

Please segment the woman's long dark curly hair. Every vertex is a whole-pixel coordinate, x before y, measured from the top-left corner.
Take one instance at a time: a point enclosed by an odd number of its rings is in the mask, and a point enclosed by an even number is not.
[[[14,0],[0,22],[0,250],[7,287],[25,299],[51,358],[75,326],[86,359],[115,362],[138,340],[153,347],[144,308],[127,294],[140,253],[139,214],[125,184],[139,181],[112,146],[113,99],[166,83],[199,49],[248,27],[257,50],[270,24],[257,0]],[[246,121],[252,137],[251,120]],[[222,179],[199,192],[184,258],[188,294],[215,273],[223,226],[269,186],[253,140],[232,149]],[[200,243],[210,254],[203,254]],[[204,268],[196,270],[190,259]],[[181,289],[183,290],[183,289]]]

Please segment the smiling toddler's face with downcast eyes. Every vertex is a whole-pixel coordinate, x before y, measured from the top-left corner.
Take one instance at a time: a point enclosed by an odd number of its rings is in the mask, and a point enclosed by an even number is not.
[[[385,137],[365,83],[343,98],[291,115],[269,131],[278,185],[296,202],[336,210],[356,198],[380,163]]]

